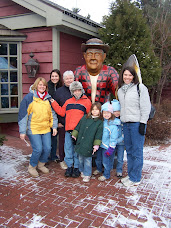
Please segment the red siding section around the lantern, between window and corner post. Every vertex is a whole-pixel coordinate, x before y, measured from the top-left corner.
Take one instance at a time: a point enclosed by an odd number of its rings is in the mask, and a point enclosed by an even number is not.
[[[26,40],[22,43],[22,92],[25,96],[37,77],[49,80],[52,70],[52,28],[29,28],[20,31],[27,35]],[[34,53],[34,59],[37,59],[40,64],[36,78],[29,78],[25,68],[25,63],[29,60],[31,52]]]

